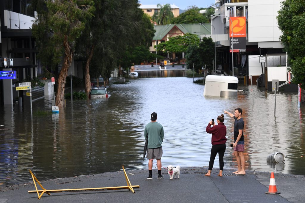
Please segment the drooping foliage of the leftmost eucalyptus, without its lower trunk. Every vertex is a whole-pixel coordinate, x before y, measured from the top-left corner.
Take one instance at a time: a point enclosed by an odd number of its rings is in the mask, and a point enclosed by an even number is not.
[[[42,65],[54,70],[65,53],[63,41],[66,39],[73,48],[86,19],[92,17],[93,1],[37,0],[35,4],[38,15],[32,33],[39,50],[37,57]]]

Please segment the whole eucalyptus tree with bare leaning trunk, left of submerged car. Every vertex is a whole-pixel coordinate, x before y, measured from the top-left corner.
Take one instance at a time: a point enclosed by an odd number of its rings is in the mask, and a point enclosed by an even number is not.
[[[84,31],[85,24],[93,16],[94,2],[92,0],[40,0],[38,2],[44,5],[44,10],[38,13],[33,24],[33,35],[37,38],[38,44],[47,42],[40,46],[39,51],[54,51],[53,61],[60,61],[63,58],[55,101],[56,106],[62,107],[66,76],[74,57],[76,40]],[[39,41],[43,37],[45,41]],[[48,46],[45,47],[45,45]],[[54,59],[55,57],[57,59]]]

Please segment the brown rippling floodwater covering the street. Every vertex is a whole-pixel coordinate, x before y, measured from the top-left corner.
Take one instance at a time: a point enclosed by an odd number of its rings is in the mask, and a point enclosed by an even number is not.
[[[239,86],[237,98],[204,97],[203,85],[192,78],[158,77],[130,79],[111,85],[105,100],[66,100],[58,114],[37,115],[50,110],[51,99],[33,102],[29,109],[18,105],[1,107],[0,184],[31,182],[28,170],[38,180],[147,169],[143,161],[144,127],[157,112],[164,127],[162,165],[205,166],[210,159],[211,135],[205,129],[223,110],[243,110],[246,170],[305,175],[305,108],[298,108],[296,93],[274,93]],[[234,119],[227,126],[225,168],[236,168],[232,155]],[[282,152],[285,163],[267,163],[274,152]],[[156,161],[154,161],[156,163]],[[153,165],[154,167],[156,165]],[[218,158],[214,167],[219,167]],[[164,170],[164,169],[163,169]],[[215,169],[216,170],[216,169]]]

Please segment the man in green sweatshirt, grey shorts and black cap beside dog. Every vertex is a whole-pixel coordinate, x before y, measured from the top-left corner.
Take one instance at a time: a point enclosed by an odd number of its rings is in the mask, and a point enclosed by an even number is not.
[[[145,125],[144,129],[144,137],[145,140],[148,139],[147,142],[147,154],[146,158],[149,159],[148,162],[148,170],[149,176],[147,179],[152,179],[152,160],[157,159],[157,167],[158,167],[158,179],[162,179],[161,175],[161,157],[163,154],[162,151],[162,142],[164,138],[163,126],[157,122],[157,113],[153,112],[150,115],[150,120],[148,124]]]

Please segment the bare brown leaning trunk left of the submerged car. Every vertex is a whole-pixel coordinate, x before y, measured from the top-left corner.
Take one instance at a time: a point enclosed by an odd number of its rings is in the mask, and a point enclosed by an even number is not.
[[[61,71],[58,76],[58,86],[57,86],[57,93],[55,100],[55,104],[58,107],[63,107],[64,105],[66,77],[68,75],[68,70],[71,66],[71,62],[74,54],[70,47],[70,44],[67,41],[67,38],[65,38],[63,45],[65,47],[65,56],[63,61],[63,67],[61,68]]]

